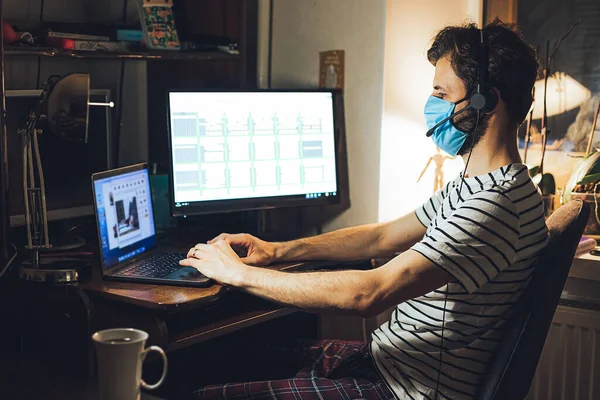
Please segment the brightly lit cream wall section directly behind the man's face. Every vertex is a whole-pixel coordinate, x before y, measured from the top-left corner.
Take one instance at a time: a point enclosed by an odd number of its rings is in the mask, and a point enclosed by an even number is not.
[[[435,146],[423,106],[432,92],[434,68],[427,49],[436,31],[448,24],[481,20],[479,0],[388,0],[385,31],[383,122],[378,220],[414,210],[432,194],[433,165],[417,179]],[[460,158],[444,164],[446,181],[460,173]]]

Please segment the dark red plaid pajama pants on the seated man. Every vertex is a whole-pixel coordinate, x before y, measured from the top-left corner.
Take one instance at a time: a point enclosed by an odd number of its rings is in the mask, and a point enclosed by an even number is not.
[[[393,399],[368,345],[320,341],[295,350],[300,369],[289,379],[206,386],[195,399]]]

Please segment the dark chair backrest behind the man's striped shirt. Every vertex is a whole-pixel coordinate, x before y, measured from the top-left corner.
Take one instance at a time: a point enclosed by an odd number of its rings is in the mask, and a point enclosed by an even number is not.
[[[546,221],[550,242],[519,298],[505,334],[487,366],[477,399],[523,399],[546,341],[573,256],[590,215],[587,203],[573,200]]]

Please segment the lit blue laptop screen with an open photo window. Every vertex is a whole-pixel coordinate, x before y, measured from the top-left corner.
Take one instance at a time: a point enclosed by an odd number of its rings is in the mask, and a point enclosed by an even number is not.
[[[156,246],[148,169],[94,180],[104,268]]]

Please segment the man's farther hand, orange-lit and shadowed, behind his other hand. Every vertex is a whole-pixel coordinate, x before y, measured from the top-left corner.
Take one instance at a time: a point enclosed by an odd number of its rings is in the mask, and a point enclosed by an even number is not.
[[[241,261],[249,265],[268,265],[275,261],[275,243],[265,242],[247,233],[221,233],[208,244],[224,241],[236,252],[246,253]]]

